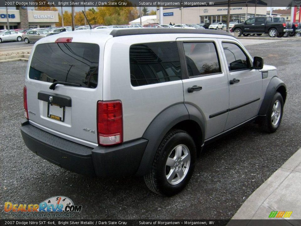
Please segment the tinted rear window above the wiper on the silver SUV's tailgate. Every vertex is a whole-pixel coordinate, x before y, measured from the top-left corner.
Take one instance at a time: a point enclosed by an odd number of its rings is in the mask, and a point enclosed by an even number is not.
[[[90,43],[47,43],[36,46],[29,78],[43,82],[77,83],[96,88],[99,46]]]

